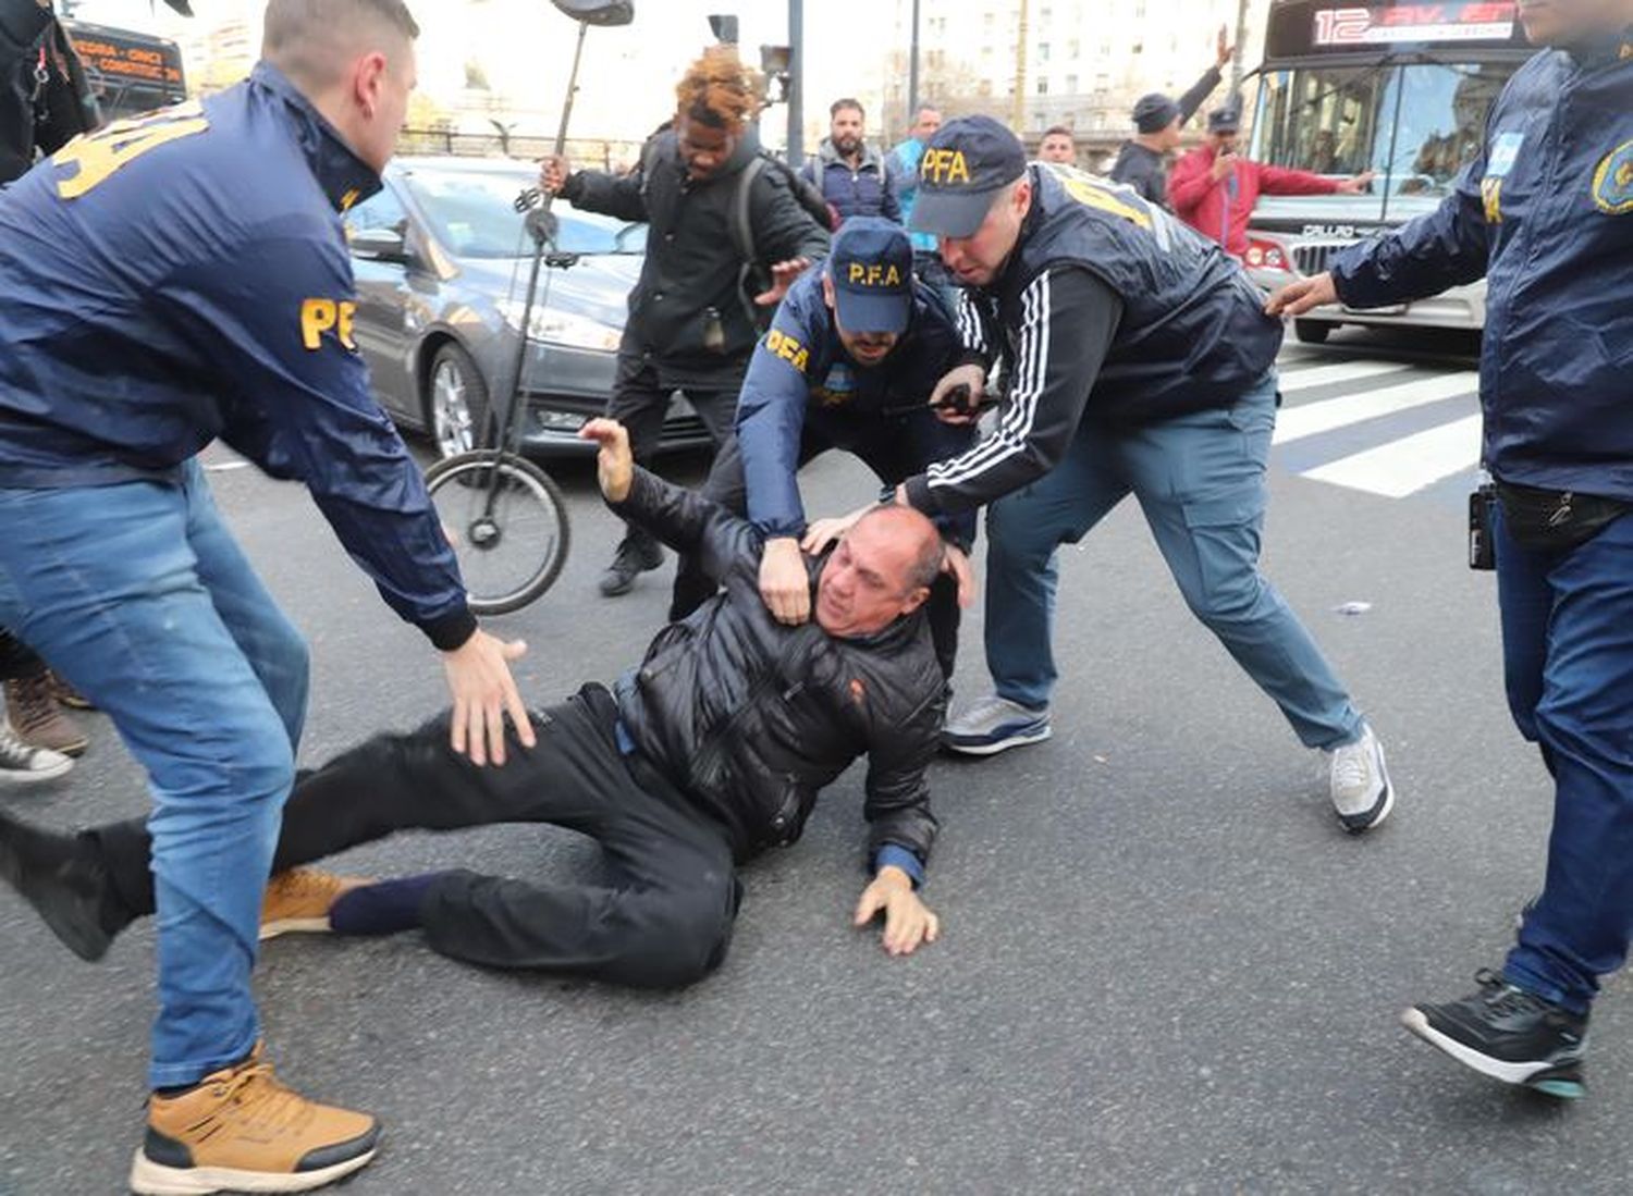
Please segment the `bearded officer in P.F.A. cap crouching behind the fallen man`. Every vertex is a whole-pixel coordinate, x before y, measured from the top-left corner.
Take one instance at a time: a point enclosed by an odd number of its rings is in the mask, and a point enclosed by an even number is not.
[[[967,449],[973,427],[946,424],[924,406],[962,356],[952,313],[914,281],[911,241],[893,220],[852,217],[834,237],[828,266],[789,289],[750,361],[736,436],[704,483],[705,496],[764,530],[759,591],[779,620],[810,618],[802,540],[805,550],[821,551],[862,514],[807,525],[799,468],[844,449],[893,489],[931,462]],[[937,522],[949,571],[968,589],[965,553],[975,538],[975,511]],[[670,618],[684,618],[714,589],[699,561],[683,561]],[[929,618],[942,671],[950,674],[959,638],[952,578],[937,584]]]

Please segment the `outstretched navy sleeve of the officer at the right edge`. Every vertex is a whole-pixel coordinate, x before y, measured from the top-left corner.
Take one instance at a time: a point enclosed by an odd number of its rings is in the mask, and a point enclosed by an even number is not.
[[[1484,277],[1491,256],[1481,153],[1458,175],[1453,191],[1427,212],[1377,240],[1333,255],[1328,271],[1349,307],[1383,307],[1435,295]],[[1501,193],[1494,197],[1501,202]]]

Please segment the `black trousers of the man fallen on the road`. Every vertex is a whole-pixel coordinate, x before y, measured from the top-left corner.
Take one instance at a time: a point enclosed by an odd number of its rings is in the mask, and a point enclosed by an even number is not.
[[[539,746],[514,738],[501,769],[477,769],[447,746],[447,716],[379,736],[296,783],[273,871],[395,831],[549,822],[590,835],[606,884],[539,884],[444,873],[421,924],[443,955],[490,968],[676,987],[725,958],[740,886],[725,827],[639,755],[619,752],[617,707],[601,685],[536,710]],[[154,912],[144,819],[87,832],[114,896],[132,917]]]

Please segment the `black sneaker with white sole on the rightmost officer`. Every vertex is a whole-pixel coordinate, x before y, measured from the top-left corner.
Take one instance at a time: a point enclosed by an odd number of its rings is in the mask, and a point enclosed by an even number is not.
[[[1494,1080],[1564,1100],[1582,1096],[1587,1015],[1515,989],[1486,968],[1475,979],[1479,992],[1445,1005],[1413,1005],[1401,1023]]]

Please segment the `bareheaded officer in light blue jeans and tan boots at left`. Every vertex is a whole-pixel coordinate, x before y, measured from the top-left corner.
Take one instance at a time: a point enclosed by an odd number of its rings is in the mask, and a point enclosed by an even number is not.
[[[78,139],[0,202],[0,625],[108,711],[154,796],[139,1193],[304,1191],[379,1136],[279,1085],[260,1044],[250,971],[307,648],[194,455],[220,439],[307,485],[441,651],[456,752],[501,764],[505,713],[534,742],[506,666],[521,646],[477,628],[351,334],[338,212],[380,186],[418,28],[402,0],[271,0],[265,29],[248,82]]]

